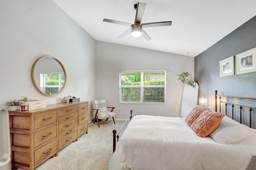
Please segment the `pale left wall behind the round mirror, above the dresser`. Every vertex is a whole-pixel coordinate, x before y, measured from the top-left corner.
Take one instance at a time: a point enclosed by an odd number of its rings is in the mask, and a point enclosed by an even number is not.
[[[0,0],[0,108],[21,96],[47,104],[68,95],[94,99],[95,43],[52,0]],[[30,77],[32,64],[44,55],[58,58],[67,73],[66,87],[52,97],[36,91]]]

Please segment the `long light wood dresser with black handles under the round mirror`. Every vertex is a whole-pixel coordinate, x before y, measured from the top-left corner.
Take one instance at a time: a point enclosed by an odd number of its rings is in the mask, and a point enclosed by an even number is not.
[[[12,167],[34,170],[88,133],[88,101],[9,111]]]

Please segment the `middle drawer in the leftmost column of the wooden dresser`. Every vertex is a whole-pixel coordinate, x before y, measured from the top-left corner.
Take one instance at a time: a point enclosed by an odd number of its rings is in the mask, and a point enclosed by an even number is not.
[[[36,147],[57,136],[57,125],[35,132],[34,136],[34,147]]]

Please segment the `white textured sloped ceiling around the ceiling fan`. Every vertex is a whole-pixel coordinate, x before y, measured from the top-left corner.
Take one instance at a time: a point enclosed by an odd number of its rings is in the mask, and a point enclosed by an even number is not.
[[[256,16],[256,0],[53,0],[95,40],[195,57]],[[144,28],[152,38],[130,34],[129,26],[103,22],[103,18],[134,24],[134,4],[146,3],[142,23],[172,21],[172,26]],[[252,28],[256,29],[256,28]]]

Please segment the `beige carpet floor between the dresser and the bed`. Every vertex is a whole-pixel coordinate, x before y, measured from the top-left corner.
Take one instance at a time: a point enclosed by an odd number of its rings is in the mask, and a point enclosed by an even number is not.
[[[102,120],[100,128],[97,123],[89,123],[88,134],[82,135],[77,142],[72,142],[36,170],[108,170],[113,152],[112,130],[119,130],[123,123]]]

